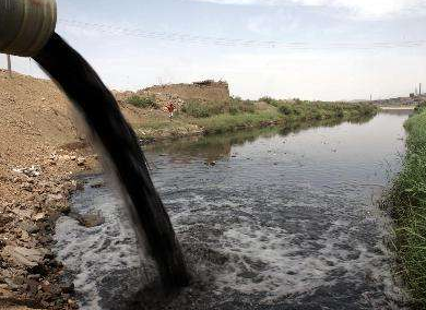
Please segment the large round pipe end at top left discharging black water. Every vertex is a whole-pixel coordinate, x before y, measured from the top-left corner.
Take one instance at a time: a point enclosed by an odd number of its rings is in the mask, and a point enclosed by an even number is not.
[[[32,57],[55,32],[56,0],[0,0],[0,52]]]

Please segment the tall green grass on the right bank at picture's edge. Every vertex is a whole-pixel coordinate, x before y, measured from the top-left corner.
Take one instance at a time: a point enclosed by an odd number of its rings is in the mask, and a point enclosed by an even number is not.
[[[406,155],[386,204],[395,220],[399,272],[418,309],[426,309],[426,108],[405,122]]]

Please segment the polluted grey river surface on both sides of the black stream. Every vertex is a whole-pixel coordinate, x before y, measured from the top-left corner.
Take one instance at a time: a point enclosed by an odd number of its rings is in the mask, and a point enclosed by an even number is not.
[[[409,114],[143,146],[193,275],[168,298],[118,187],[80,176],[55,251],[81,309],[405,309],[378,201]],[[75,219],[87,214],[94,227]]]

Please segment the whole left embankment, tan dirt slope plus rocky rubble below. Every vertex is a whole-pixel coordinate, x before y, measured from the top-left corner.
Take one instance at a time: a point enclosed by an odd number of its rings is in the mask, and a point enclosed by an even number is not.
[[[72,309],[49,250],[72,175],[96,166],[68,99],[49,81],[0,71],[0,309]]]

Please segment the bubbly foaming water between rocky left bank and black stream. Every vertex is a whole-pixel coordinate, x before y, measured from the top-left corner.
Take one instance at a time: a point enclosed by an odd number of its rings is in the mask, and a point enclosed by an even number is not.
[[[117,309],[102,305],[109,299],[116,303],[129,299],[154,276],[146,274],[154,267],[146,259],[141,261],[135,233],[116,191],[87,184],[84,192],[74,195],[72,210],[84,214],[92,208],[102,213],[105,223],[87,228],[72,217],[60,217],[55,250],[74,276],[81,309]]]

